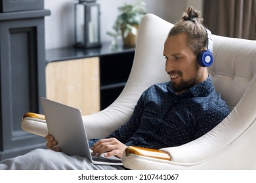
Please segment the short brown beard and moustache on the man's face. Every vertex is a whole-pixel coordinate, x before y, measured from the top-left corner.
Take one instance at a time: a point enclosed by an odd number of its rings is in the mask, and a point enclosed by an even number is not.
[[[172,82],[171,83],[171,88],[173,89],[174,92],[179,93],[179,92],[185,92],[192,86],[195,86],[198,84],[198,78],[200,76],[199,72],[200,66],[196,63],[194,66],[194,75],[192,75],[188,80],[184,80],[183,78],[179,83]],[[178,74],[179,76],[182,76],[182,71],[172,71],[171,74]]]

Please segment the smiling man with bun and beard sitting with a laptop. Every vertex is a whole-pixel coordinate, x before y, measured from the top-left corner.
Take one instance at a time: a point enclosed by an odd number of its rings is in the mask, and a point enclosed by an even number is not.
[[[200,12],[187,8],[164,44],[165,71],[170,81],[155,84],[142,93],[130,120],[109,137],[91,139],[93,156],[106,152],[107,157],[121,158],[127,146],[156,149],[179,146],[207,133],[229,114],[226,103],[213,88],[207,67],[198,61],[202,52],[208,49],[207,34]],[[207,59],[211,61],[212,58]],[[86,158],[55,152],[60,151],[58,142],[51,135],[46,139],[47,147],[53,151],[34,150],[22,158],[0,163],[0,169],[25,160],[33,161],[31,168],[34,169],[124,169],[93,165]],[[37,166],[36,162],[42,165]],[[29,166],[22,168],[30,169]]]

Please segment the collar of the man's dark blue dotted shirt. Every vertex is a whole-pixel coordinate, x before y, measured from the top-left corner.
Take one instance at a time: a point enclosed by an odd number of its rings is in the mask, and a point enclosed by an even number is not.
[[[168,84],[168,89],[171,93],[175,94],[173,89],[171,88],[171,82]],[[206,80],[203,82],[200,82],[199,84],[196,84],[195,86],[192,86],[190,89],[188,89],[186,92],[181,93],[179,95],[193,95],[194,97],[202,97],[205,95],[208,95],[211,90],[213,89],[213,84],[211,80],[211,76],[208,76]]]

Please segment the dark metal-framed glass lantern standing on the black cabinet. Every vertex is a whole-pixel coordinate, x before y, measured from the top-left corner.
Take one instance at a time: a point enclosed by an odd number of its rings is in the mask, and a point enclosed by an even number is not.
[[[75,46],[100,47],[100,5],[96,0],[75,3]]]

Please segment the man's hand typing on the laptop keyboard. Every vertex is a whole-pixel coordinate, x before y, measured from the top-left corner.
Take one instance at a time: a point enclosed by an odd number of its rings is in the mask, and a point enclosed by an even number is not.
[[[92,156],[100,156],[102,153],[106,152],[106,158],[110,156],[117,156],[118,158],[122,158],[125,148],[127,148],[125,144],[118,141],[116,138],[111,138],[101,139],[93,145],[91,150],[93,150]]]

